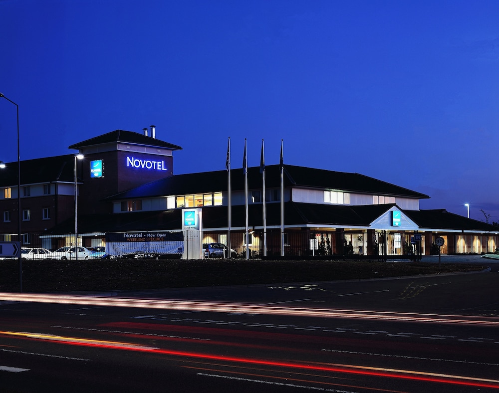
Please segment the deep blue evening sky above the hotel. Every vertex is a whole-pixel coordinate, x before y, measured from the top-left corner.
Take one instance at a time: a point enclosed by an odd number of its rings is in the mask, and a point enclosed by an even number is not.
[[[499,1],[0,0],[0,92],[21,160],[116,129],[174,173],[284,162],[499,220]],[[0,99],[0,160],[16,160]]]

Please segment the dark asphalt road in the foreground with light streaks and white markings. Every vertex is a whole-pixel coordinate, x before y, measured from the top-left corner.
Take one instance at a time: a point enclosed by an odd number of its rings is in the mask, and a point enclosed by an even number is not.
[[[3,294],[0,392],[497,392],[499,264],[490,265],[390,280]]]

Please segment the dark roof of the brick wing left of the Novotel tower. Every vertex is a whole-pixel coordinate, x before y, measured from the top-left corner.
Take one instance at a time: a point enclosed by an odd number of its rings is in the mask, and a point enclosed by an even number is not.
[[[0,170],[0,187],[17,184],[17,161]],[[74,182],[74,155],[44,157],[20,162],[20,184]]]

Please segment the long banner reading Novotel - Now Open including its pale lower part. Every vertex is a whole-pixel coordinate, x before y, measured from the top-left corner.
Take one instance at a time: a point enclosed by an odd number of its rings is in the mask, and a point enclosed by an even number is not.
[[[106,253],[110,255],[178,254],[182,253],[183,247],[183,232],[141,231],[106,234]]]

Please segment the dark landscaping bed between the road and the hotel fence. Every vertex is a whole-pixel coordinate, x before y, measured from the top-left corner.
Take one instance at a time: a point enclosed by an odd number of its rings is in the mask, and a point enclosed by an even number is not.
[[[23,292],[140,290],[353,280],[477,271],[467,264],[365,261],[24,261]],[[0,262],[0,292],[19,291],[16,260]]]

